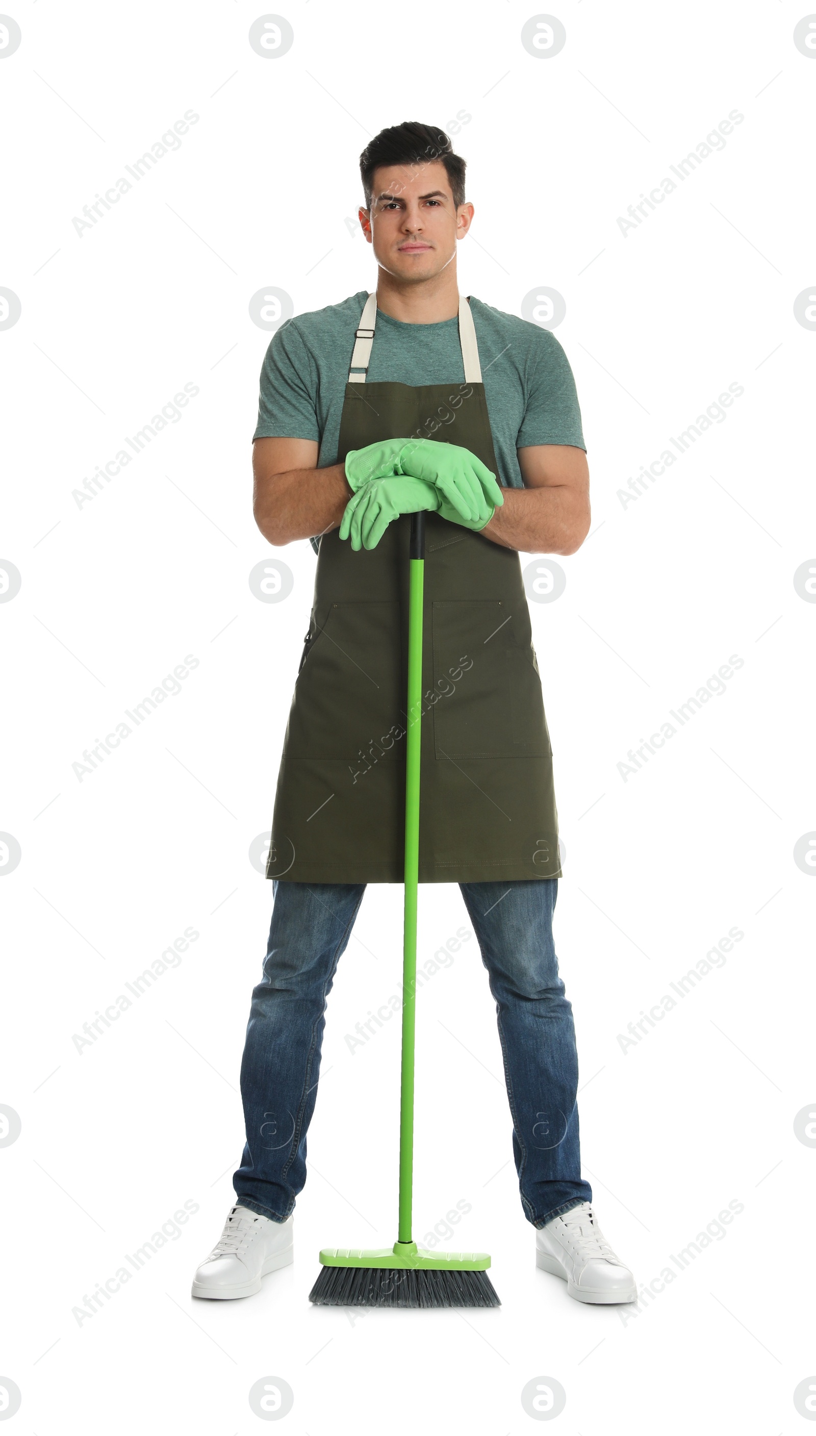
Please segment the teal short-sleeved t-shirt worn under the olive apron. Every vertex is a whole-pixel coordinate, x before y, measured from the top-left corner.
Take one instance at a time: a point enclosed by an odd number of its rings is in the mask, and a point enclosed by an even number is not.
[[[260,372],[253,438],[316,439],[317,467],[338,461],[340,414],[355,329],[368,290],[287,319],[272,336]],[[499,482],[523,488],[517,448],[572,444],[586,449],[569,360],[549,329],[471,296],[481,379]],[[371,383],[464,383],[458,319],[405,325],[378,309],[368,366]],[[312,538],[317,551],[317,540]]]

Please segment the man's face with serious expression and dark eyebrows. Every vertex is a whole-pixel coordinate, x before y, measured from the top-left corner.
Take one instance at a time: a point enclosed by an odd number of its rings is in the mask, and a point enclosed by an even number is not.
[[[441,159],[381,165],[374,171],[371,210],[361,224],[381,269],[404,283],[421,283],[451,263],[473,220],[473,204],[454,205]]]

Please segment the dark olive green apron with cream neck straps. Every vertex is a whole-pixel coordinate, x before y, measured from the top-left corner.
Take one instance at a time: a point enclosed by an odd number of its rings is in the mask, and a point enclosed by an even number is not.
[[[434,438],[497,474],[470,306],[464,383],[366,383],[369,294],[346,385],[338,462],[379,439]],[[274,800],[267,877],[398,883],[405,846],[411,517],[359,553],[320,538],[315,602]],[[552,748],[514,549],[425,520],[419,882],[560,877]]]

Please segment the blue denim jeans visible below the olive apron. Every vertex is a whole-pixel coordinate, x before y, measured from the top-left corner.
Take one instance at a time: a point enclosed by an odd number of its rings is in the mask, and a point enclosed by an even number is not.
[[[543,1226],[592,1200],[580,1178],[572,1005],[552,933],[557,879],[460,889],[496,998],[521,1206]],[[273,892],[241,1061],[247,1140],[233,1185],[243,1206],[283,1222],[306,1182],[326,997],[365,883],[273,882]]]

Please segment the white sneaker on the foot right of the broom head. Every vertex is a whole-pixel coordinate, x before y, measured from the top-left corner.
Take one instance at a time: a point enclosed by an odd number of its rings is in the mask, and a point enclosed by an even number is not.
[[[636,1301],[635,1278],[618,1259],[589,1202],[536,1231],[536,1265],[566,1281],[576,1301]]]

